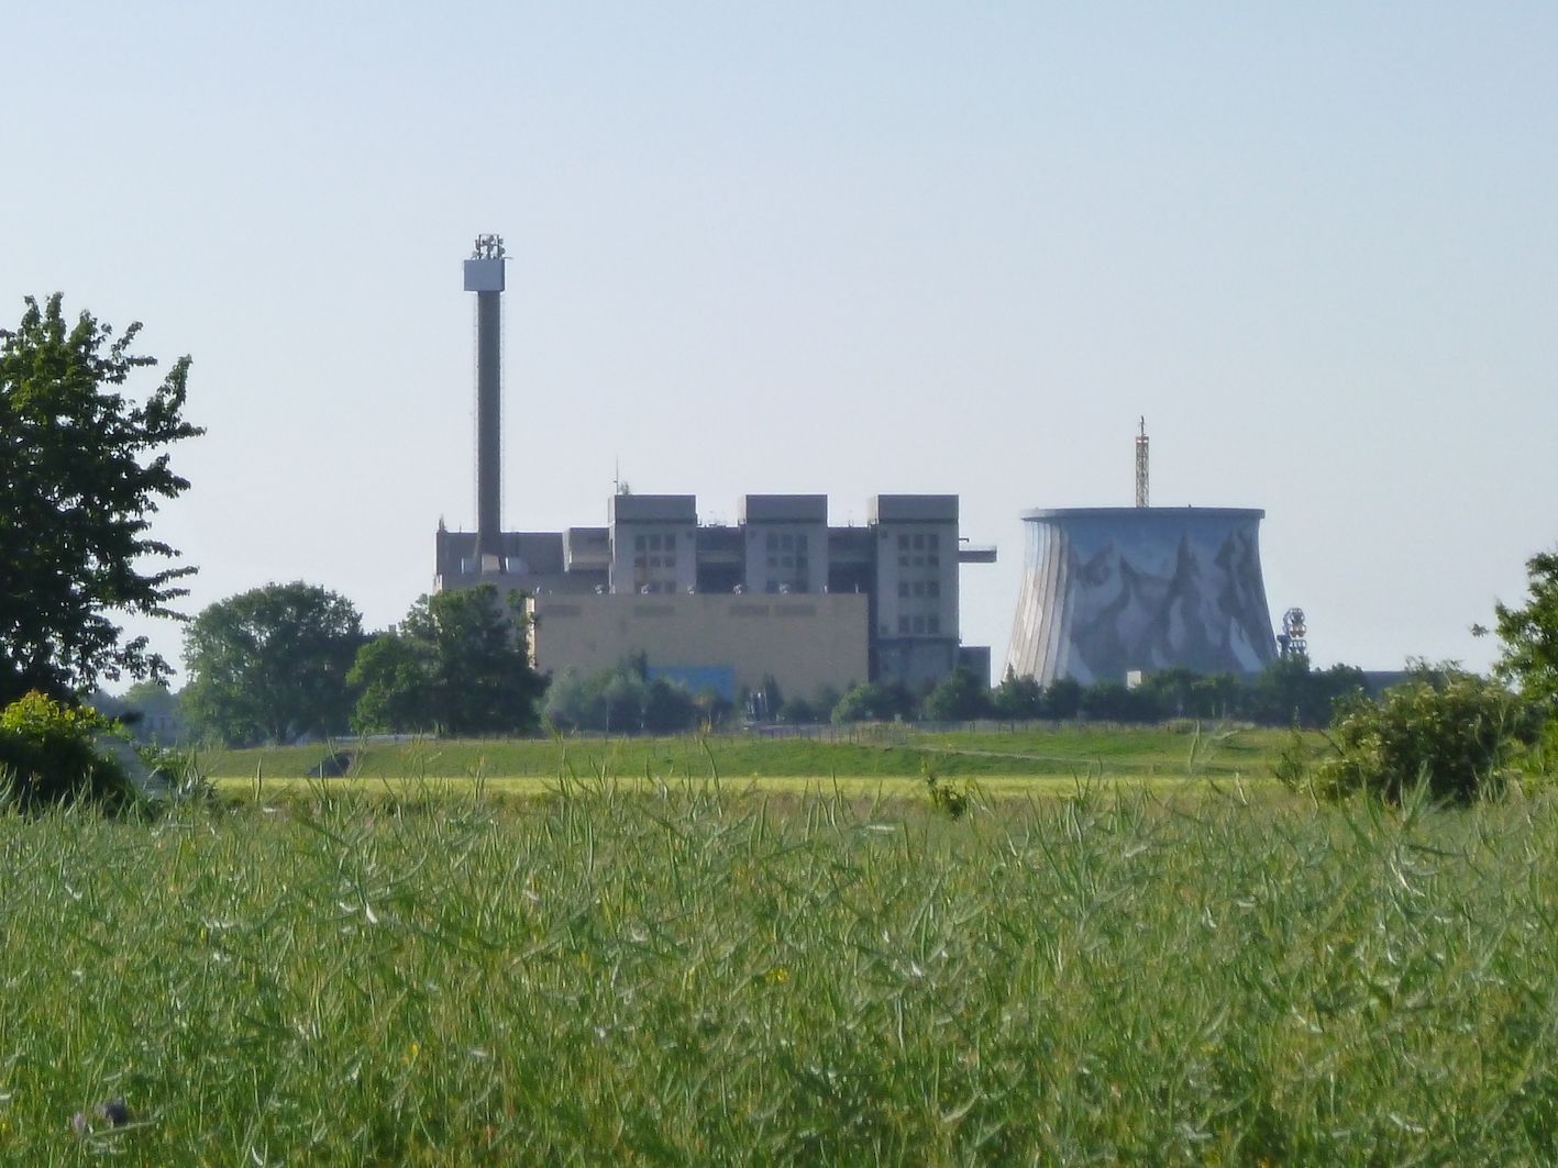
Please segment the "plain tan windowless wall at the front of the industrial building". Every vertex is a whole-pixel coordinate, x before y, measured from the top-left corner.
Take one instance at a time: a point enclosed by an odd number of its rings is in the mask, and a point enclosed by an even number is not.
[[[542,593],[528,607],[545,673],[595,673],[642,653],[651,668],[731,668],[737,687],[773,674],[798,696],[866,681],[865,595]]]

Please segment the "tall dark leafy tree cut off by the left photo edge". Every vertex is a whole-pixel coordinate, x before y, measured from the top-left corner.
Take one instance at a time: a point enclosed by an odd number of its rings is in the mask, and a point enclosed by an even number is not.
[[[131,354],[139,332],[115,338],[87,313],[69,324],[58,294],[26,297],[17,330],[0,330],[0,705],[171,673],[109,617],[178,617],[168,604],[195,572],[142,570],[179,554],[148,534],[150,515],[189,487],[167,447],[201,430],[181,417],[187,357],[143,403],[120,392],[156,364]]]

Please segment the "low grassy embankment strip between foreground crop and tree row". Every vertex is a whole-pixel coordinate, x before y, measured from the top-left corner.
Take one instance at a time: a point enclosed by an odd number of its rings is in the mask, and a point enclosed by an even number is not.
[[[559,777],[614,776],[622,782],[720,777],[777,790],[807,783],[849,793],[910,790],[925,768],[947,779],[975,779],[991,794],[1069,791],[1077,780],[1131,779],[1178,785],[1184,779],[1264,783],[1285,735],[1256,729],[1100,729],[1059,726],[1016,732],[933,734],[910,727],[863,727],[854,740],[754,738],[531,738],[418,741],[226,751],[201,765],[224,790],[252,790],[305,779],[332,749],[349,752],[349,777],[369,788],[404,780],[481,777],[494,790],[536,794]],[[796,783],[795,780],[804,780]]]

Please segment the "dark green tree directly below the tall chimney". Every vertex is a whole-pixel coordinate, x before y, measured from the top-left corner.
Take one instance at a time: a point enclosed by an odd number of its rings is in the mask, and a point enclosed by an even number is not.
[[[419,598],[347,681],[361,691],[357,729],[447,735],[534,730],[547,688],[527,659],[523,617],[500,607],[491,584]]]

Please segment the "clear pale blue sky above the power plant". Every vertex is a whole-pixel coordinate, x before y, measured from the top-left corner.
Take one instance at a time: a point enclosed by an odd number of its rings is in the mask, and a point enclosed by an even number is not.
[[[1558,544],[1558,5],[279,3],[8,11],[0,327],[189,354],[189,612],[369,628],[475,525],[955,492],[1000,671],[1020,512],[1256,506],[1310,656],[1485,668]],[[134,391],[136,386],[131,386]],[[145,388],[145,386],[142,386]],[[131,623],[176,660],[171,621]]]

